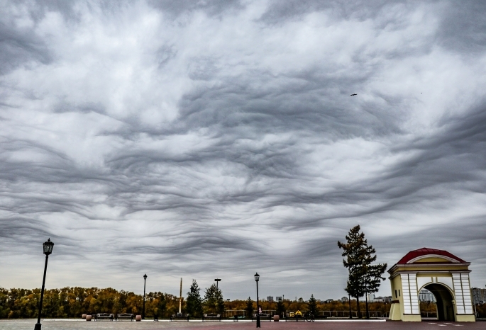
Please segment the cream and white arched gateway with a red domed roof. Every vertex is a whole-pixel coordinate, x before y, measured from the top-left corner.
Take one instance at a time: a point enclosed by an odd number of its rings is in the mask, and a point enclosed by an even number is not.
[[[391,320],[421,321],[419,292],[427,289],[437,301],[440,321],[475,322],[467,261],[448,251],[410,251],[388,271],[392,285]]]

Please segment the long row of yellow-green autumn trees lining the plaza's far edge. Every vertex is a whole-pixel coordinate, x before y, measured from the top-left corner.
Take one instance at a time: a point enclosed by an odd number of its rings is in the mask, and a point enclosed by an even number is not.
[[[217,288],[216,288],[217,289]],[[248,297],[248,300],[233,300],[223,302],[222,295],[219,297],[219,290],[206,289],[203,298],[198,297],[194,292],[198,292],[197,283],[193,281],[191,291],[188,292],[187,300],[182,303],[182,311],[200,317],[202,312],[221,312],[223,309],[245,310],[247,315],[253,314],[256,310],[256,302]],[[210,298],[211,292],[216,292],[216,297]],[[40,290],[24,289],[1,289],[0,288],[0,318],[34,318],[37,317],[38,300]],[[210,298],[210,299],[208,299]],[[214,299],[216,298],[216,299]],[[192,301],[192,302],[191,302]],[[216,303],[215,303],[216,302]],[[135,295],[133,292],[116,291],[111,288],[63,288],[45,291],[43,316],[45,317],[80,317],[83,313],[128,312],[140,314],[143,306],[143,297]],[[363,310],[365,302],[360,302],[358,307],[356,300],[351,300],[353,311]],[[222,307],[223,306],[223,307]],[[311,311],[314,315],[319,315],[320,311],[348,311],[348,302],[335,300],[325,304],[319,304],[311,296],[309,302],[284,300],[279,302],[260,302],[263,310],[276,310],[277,314],[287,311],[300,310]],[[370,310],[385,314],[390,312],[390,304],[384,302],[371,302]],[[479,317],[486,317],[486,304],[477,305]],[[179,297],[161,292],[150,292],[146,297],[145,313],[147,317],[169,317],[179,310]],[[421,312],[436,312],[436,304],[421,302]]]

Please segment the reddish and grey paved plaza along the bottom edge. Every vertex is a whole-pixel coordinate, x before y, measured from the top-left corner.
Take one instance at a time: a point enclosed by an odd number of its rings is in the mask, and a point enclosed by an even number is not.
[[[1,330],[32,330],[35,320],[1,320]],[[255,322],[79,322],[77,320],[44,320],[43,330],[253,330]],[[448,327],[448,328],[444,328]],[[263,322],[262,330],[433,330],[433,329],[486,329],[486,322]]]

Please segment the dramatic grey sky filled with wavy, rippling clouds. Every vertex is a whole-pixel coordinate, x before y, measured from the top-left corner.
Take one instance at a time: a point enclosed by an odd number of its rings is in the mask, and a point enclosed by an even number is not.
[[[1,287],[338,298],[356,224],[486,284],[484,1],[0,11]]]

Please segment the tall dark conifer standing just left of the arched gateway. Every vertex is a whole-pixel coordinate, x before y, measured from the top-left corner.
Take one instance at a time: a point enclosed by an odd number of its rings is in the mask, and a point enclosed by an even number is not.
[[[377,292],[380,288],[382,277],[387,269],[386,263],[373,264],[376,261],[376,251],[373,246],[368,245],[365,234],[360,232],[360,226],[350,229],[346,235],[346,243],[338,241],[339,249],[343,249],[343,265],[348,268],[348,282],[346,292],[351,297],[355,297],[358,302],[358,315],[360,313],[360,297],[368,297],[368,293]],[[368,313],[368,299],[366,299],[366,318],[370,318]]]

